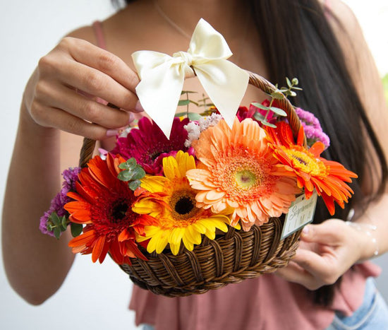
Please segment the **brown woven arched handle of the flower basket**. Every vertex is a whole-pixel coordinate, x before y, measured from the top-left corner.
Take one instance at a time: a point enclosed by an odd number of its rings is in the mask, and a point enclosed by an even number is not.
[[[260,88],[265,93],[271,94],[277,88],[275,88],[272,83],[269,83],[267,79],[264,77],[258,75],[257,73],[253,73],[250,71],[247,71],[249,74],[249,84],[252,86],[255,86],[257,88]],[[289,121],[289,124],[291,126],[291,130],[293,132],[293,136],[296,139],[298,136],[298,131],[301,128],[301,121],[299,120],[298,115],[296,114],[295,110],[293,109],[293,105],[291,105],[291,102],[287,98],[283,98],[281,100],[277,100],[279,102],[279,105],[287,114],[287,119]],[[111,103],[108,104],[109,107],[116,108],[116,105],[112,105]],[[89,138],[83,139],[83,146],[80,150],[80,162],[79,167],[86,167],[87,162],[92,158],[93,152],[95,151],[95,145],[96,141]],[[306,145],[306,139],[304,141],[304,145]]]

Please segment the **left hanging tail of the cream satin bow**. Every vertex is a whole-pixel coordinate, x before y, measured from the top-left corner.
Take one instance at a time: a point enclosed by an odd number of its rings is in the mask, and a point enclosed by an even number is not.
[[[166,62],[150,71],[143,71],[142,80],[136,87],[145,112],[167,138],[171,133],[184,81],[184,72],[181,72],[179,66],[171,66],[171,62]]]

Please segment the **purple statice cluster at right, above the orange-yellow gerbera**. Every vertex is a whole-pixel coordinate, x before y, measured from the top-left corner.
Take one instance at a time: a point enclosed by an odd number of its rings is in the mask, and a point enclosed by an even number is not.
[[[311,112],[303,110],[300,107],[297,107],[295,111],[296,114],[298,114],[299,119],[301,119],[308,145],[312,146],[315,142],[320,141],[325,145],[325,149],[329,148],[329,136],[322,131],[320,121],[317,117],[315,117]]]

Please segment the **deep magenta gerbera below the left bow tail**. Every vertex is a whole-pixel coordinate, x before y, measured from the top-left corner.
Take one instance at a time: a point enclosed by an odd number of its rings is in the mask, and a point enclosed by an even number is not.
[[[179,150],[193,153],[187,148],[185,141],[188,132],[183,128],[189,120],[174,119],[171,138],[167,139],[159,126],[143,117],[138,129],[131,129],[128,136],[117,139],[116,147],[111,153],[119,153],[123,158],[135,158],[148,174],[163,175],[162,160],[167,156],[175,156]]]

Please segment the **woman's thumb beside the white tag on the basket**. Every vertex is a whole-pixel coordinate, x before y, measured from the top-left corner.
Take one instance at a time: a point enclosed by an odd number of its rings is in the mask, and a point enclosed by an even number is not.
[[[306,225],[302,230],[301,240],[319,244],[336,244],[341,235],[342,220],[331,219],[319,225]]]

